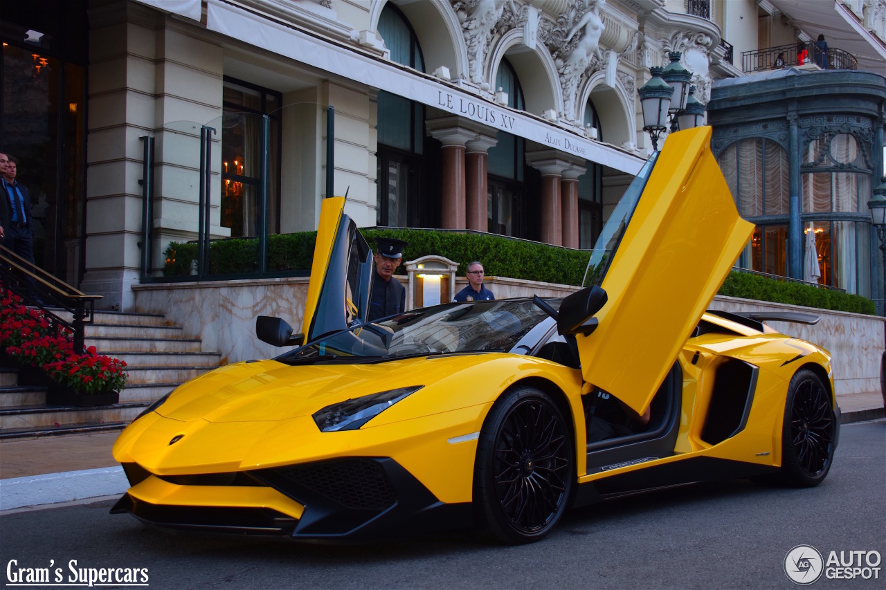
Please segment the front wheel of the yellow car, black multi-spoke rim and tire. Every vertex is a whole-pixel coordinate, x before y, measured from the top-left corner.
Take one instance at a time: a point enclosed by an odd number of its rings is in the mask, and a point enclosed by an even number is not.
[[[480,431],[474,506],[485,532],[509,544],[544,539],[563,516],[575,482],[571,427],[554,400],[515,387]]]

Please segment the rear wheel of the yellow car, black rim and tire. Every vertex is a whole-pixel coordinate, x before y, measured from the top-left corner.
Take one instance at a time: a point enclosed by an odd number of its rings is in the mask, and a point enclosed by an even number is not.
[[[836,417],[821,379],[801,369],[790,380],[781,430],[781,472],[776,481],[791,487],[819,485],[834,460]]]

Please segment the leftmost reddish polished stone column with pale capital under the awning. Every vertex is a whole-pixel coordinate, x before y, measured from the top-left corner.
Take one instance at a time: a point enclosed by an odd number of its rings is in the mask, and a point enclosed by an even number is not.
[[[458,117],[428,120],[425,127],[443,144],[440,225],[446,229],[465,229],[464,146],[477,137],[477,131],[468,128]]]

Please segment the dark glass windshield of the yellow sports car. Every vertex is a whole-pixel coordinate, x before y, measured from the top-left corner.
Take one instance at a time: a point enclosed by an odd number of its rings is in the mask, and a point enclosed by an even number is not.
[[[559,299],[548,301],[559,307]],[[446,303],[355,324],[277,357],[286,363],[378,361],[430,354],[508,352],[548,317],[532,299]]]

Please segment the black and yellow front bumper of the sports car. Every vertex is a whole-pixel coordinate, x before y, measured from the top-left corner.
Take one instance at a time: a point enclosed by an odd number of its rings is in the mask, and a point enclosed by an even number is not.
[[[190,476],[124,469],[132,487],[111,512],[167,530],[354,539],[471,524],[470,503],[439,501],[389,457]]]

